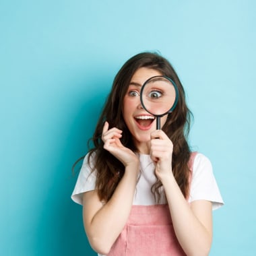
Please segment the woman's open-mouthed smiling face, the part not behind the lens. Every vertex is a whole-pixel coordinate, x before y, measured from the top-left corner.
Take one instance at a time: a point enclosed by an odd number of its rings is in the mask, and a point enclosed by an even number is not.
[[[135,145],[142,154],[149,153],[150,133],[156,130],[156,118],[143,109],[139,95],[144,82],[155,75],[162,75],[162,73],[147,67],[137,69],[131,77],[129,88],[123,99],[123,119],[133,135]],[[166,119],[167,115],[161,118],[161,128]]]

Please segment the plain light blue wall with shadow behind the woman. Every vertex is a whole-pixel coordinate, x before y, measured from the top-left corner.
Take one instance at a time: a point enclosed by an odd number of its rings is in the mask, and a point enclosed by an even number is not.
[[[226,205],[210,255],[255,255],[255,1],[0,1],[1,255],[95,255],[70,199],[121,65],[159,51]]]

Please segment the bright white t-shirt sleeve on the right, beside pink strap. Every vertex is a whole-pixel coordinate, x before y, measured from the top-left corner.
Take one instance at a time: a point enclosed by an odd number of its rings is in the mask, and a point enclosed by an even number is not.
[[[197,154],[193,162],[189,202],[196,200],[212,201],[212,210],[216,210],[224,204],[214,177],[212,164],[203,154]]]

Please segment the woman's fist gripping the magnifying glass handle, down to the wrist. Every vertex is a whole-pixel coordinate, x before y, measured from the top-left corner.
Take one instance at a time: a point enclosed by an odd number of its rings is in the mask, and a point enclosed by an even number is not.
[[[162,130],[151,133],[150,156],[156,166],[156,176],[160,181],[172,175],[172,141]]]

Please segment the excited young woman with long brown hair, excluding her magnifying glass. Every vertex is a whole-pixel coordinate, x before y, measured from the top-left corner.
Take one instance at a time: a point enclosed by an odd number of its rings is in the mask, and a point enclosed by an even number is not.
[[[159,130],[139,98],[156,75],[179,90]],[[190,118],[183,86],[164,57],[139,53],[117,73],[72,194],[98,255],[208,255],[212,209],[223,201],[210,160],[189,149]]]

